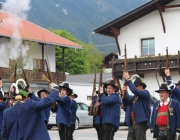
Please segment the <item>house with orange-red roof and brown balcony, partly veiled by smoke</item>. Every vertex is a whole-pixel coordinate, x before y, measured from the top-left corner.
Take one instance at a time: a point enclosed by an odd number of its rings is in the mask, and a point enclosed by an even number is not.
[[[13,24],[18,23],[17,27],[13,27],[12,24],[9,24],[9,20]],[[3,56],[3,58],[5,58],[5,60],[1,58],[0,61],[0,75],[4,81],[4,88],[6,91],[9,88],[9,79],[13,74],[7,73],[7,71],[10,65],[15,63],[15,60],[10,59],[11,56],[4,53],[3,48],[6,48],[7,43],[10,42],[12,37],[16,38],[16,36],[14,36],[15,31],[18,31],[22,42],[28,40],[36,42],[38,45],[37,51],[29,58],[24,68],[25,72],[33,71],[34,69],[37,70],[33,79],[29,81],[30,86],[34,91],[42,88],[48,88],[48,82],[42,79],[43,74],[47,76],[45,60],[48,61],[52,81],[55,83],[57,81],[61,83],[62,81],[66,80],[65,68],[63,67],[63,73],[59,73],[56,70],[55,47],[59,46],[62,48],[62,62],[64,66],[64,57],[66,57],[64,50],[66,48],[82,49],[82,46],[58,36],[25,19],[17,17],[17,15],[13,15],[3,10],[0,10],[0,21],[0,53],[1,57]],[[14,53],[16,53],[16,50],[14,50]],[[13,82],[13,80],[11,82]]]

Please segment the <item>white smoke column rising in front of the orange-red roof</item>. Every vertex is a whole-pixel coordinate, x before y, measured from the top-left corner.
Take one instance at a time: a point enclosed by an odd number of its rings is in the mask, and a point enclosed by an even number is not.
[[[31,9],[30,2],[31,0],[6,0],[3,5],[3,10],[9,12],[8,17],[6,19],[3,19],[3,26],[4,28],[8,28],[8,30],[12,32],[12,44],[6,43],[3,45],[6,46],[6,49],[8,49],[8,51],[10,51],[9,57],[13,60],[17,59],[21,54],[22,56],[25,56],[26,52],[29,50],[29,47],[27,46],[20,47],[22,42],[19,28],[22,28],[22,19],[19,17],[27,19],[27,12]],[[4,47],[2,46],[0,50],[5,51]]]

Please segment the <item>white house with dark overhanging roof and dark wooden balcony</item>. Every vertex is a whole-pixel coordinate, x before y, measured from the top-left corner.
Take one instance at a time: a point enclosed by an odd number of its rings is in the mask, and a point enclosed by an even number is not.
[[[168,47],[169,68],[173,82],[180,80],[180,0],[151,0],[146,4],[102,25],[93,33],[113,37],[119,59],[112,66],[112,74],[122,80],[124,48],[128,57],[128,71],[144,78],[147,89],[154,93],[163,82]]]

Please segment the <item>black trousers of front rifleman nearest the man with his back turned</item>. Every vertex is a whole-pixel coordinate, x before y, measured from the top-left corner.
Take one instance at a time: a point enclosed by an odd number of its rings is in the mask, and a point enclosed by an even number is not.
[[[60,140],[69,140],[70,128],[65,124],[58,124]]]

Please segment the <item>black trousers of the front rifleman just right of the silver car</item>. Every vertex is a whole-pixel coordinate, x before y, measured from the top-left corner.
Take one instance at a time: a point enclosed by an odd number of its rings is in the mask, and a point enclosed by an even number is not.
[[[117,127],[113,124],[106,123],[102,126],[102,140],[114,140],[114,134]]]

